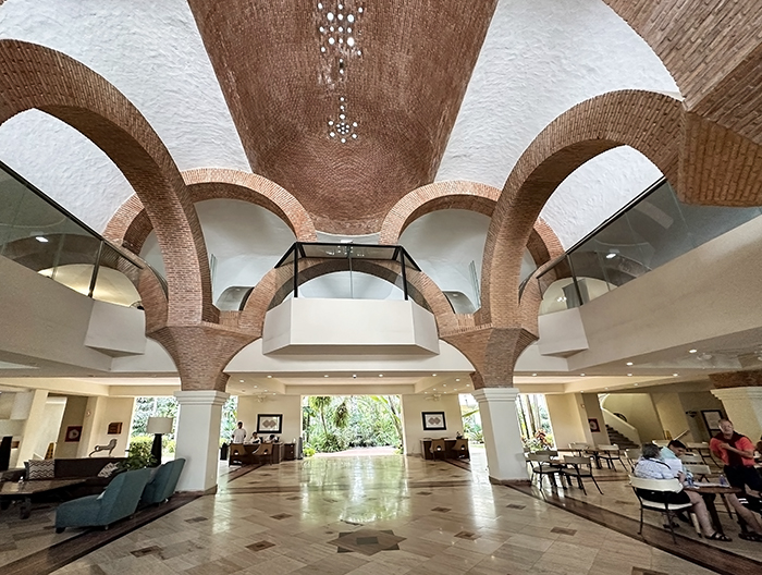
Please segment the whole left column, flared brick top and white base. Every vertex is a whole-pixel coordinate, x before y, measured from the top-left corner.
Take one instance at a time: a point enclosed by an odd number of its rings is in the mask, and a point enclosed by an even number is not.
[[[175,393],[180,404],[175,453],[186,461],[177,489],[214,492],[222,404],[229,397],[225,393],[229,376],[223,370],[256,338],[213,323],[164,326],[148,335],[163,345],[180,372],[182,391]]]

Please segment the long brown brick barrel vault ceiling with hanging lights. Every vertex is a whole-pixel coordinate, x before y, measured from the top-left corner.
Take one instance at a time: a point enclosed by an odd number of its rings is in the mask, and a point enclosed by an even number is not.
[[[433,181],[496,0],[189,5],[251,169],[294,194],[318,230],[365,234]]]

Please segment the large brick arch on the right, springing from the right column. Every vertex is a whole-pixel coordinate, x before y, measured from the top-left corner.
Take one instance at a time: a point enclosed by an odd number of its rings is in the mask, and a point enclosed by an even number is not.
[[[591,158],[627,145],[648,157],[679,188],[683,107],[641,90],[604,94],[563,113],[521,155],[497,200],[482,266],[480,320],[515,326],[520,253],[543,206],[561,182]]]

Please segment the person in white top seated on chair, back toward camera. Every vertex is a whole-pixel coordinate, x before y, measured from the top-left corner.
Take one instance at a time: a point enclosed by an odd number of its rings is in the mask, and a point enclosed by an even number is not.
[[[660,448],[653,443],[643,445],[643,454],[635,466],[635,476],[643,479],[675,479],[680,484],[685,481],[685,474],[677,472],[664,463],[659,456]],[[692,503],[692,511],[699,518],[701,531],[706,539],[714,541],[730,541],[730,538],[717,533],[712,527],[712,521],[706,511],[703,498],[696,491],[685,491],[680,486],[679,491],[651,491],[650,489],[636,489],[638,496],[648,500],[661,503]]]

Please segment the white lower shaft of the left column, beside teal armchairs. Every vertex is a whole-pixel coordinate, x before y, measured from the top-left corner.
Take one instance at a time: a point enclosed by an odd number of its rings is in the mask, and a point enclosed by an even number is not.
[[[217,491],[222,404],[229,393],[213,390],[175,391],[177,426],[175,457],[185,458],[177,491]]]

